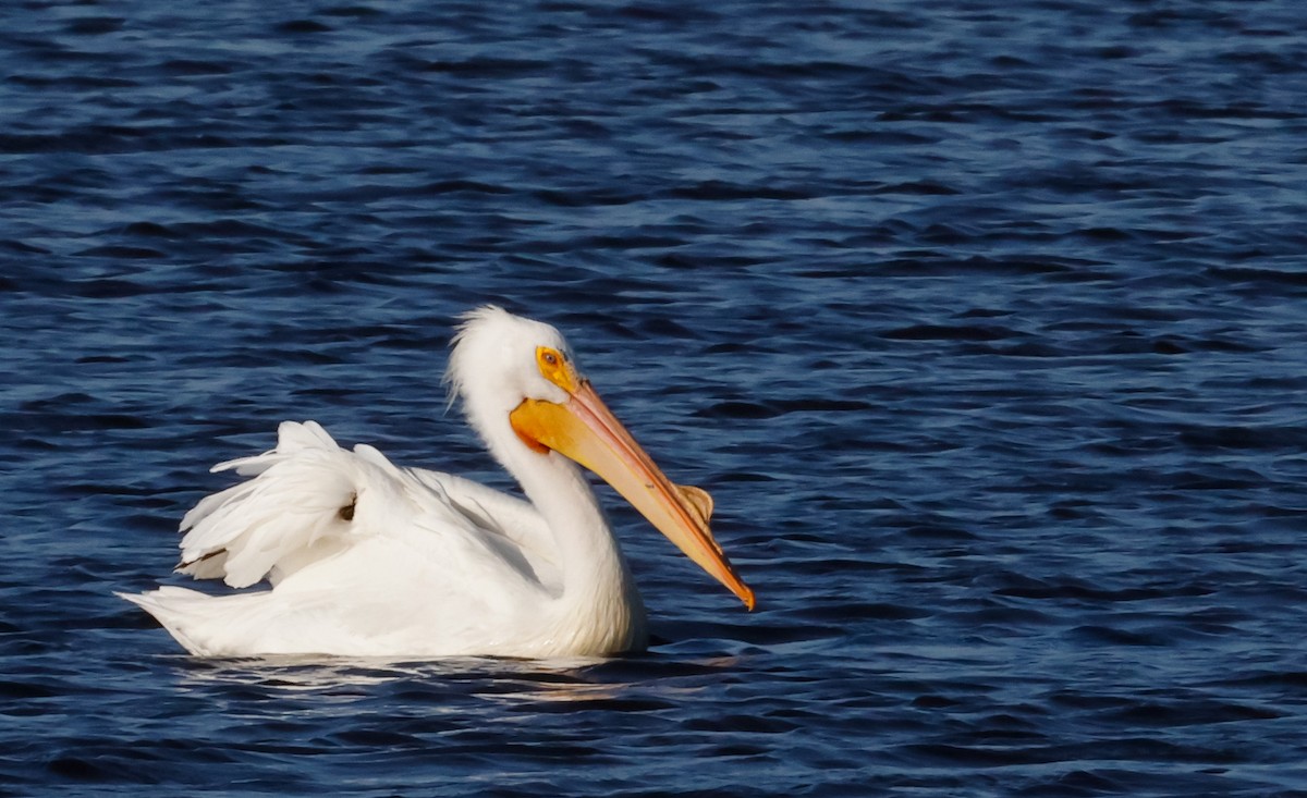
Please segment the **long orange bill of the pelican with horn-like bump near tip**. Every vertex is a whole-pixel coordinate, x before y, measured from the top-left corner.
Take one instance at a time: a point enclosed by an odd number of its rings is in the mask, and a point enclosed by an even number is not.
[[[571,375],[569,375],[571,376]],[[708,529],[712,499],[698,487],[673,485],[635,443],[588,380],[559,379],[563,404],[525,400],[510,414],[514,431],[533,448],[553,449],[599,474],[650,524],[750,610],[753,590],[731,567]]]

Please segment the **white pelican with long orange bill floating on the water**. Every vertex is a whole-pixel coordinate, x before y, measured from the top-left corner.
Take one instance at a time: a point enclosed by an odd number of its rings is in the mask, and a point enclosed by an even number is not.
[[[553,327],[482,307],[446,375],[527,502],[342,449],[314,422],[222,462],[246,482],[182,520],[182,564],[247,588],[123,596],[192,654],[605,656],[646,645],[644,605],[580,464],[750,610],[708,530],[712,500],[673,485],[582,376]],[[575,461],[575,462],[574,462]]]

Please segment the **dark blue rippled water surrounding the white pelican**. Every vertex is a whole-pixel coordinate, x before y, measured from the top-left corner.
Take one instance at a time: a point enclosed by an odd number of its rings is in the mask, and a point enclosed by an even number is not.
[[[0,10],[0,794],[1307,795],[1298,0]],[[207,661],[114,598],[312,418],[510,487],[499,302],[716,498],[656,645]]]

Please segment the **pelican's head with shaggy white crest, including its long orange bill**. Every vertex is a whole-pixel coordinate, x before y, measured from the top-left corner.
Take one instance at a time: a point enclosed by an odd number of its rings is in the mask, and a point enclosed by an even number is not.
[[[595,393],[562,334],[486,306],[464,316],[446,375],[468,421],[494,449],[507,424],[520,453],[563,456],[608,482],[750,610],[753,590],[712,537],[712,499],[673,483]]]

